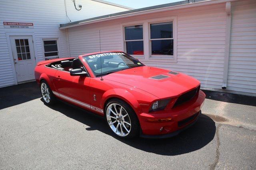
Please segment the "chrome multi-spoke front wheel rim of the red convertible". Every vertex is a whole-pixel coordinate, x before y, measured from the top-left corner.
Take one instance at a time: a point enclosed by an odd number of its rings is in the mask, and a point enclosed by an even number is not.
[[[131,131],[131,120],[127,111],[119,104],[110,104],[106,110],[108,125],[116,135],[124,137]]]

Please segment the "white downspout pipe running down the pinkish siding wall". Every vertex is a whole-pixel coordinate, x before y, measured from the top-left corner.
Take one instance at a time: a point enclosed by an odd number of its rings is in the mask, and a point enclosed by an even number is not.
[[[222,89],[227,88],[228,82],[228,65],[230,53],[230,32],[231,32],[231,2],[226,2],[226,35],[225,35],[225,54],[224,54],[224,70],[223,70],[223,83]]]

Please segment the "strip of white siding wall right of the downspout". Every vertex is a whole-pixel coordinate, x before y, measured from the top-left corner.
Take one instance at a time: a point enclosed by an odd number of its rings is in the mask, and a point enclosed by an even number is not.
[[[228,89],[256,93],[256,1],[232,3]]]

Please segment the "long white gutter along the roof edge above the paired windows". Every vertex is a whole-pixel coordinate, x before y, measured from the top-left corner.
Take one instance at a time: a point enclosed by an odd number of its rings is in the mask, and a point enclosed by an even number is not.
[[[196,7],[196,6],[220,4],[220,3],[231,2],[231,1],[236,1],[236,0],[206,0],[206,1],[202,1],[202,2],[194,2],[194,3],[190,3],[190,4],[182,4],[182,5],[170,6],[170,7],[164,7],[164,8],[157,8],[157,9],[152,9],[152,10],[134,12],[134,13],[130,13],[130,14],[122,14],[122,15],[119,15],[119,16],[112,16],[112,17],[108,17],[108,18],[101,18],[101,19],[98,19],[98,20],[84,21],[84,22],[80,22],[80,23],[77,23],[77,24],[74,24],[74,25],[68,25],[68,26],[60,27],[59,29],[66,29],[66,28],[76,27],[76,26],[80,26],[80,25],[87,25],[87,24],[91,24],[91,23],[98,23],[98,22],[102,22],[102,21],[109,21],[109,20],[126,18],[126,17],[131,17],[131,16],[151,14],[151,13],[154,13],[154,12],[164,12],[164,11],[169,11],[169,10],[192,8],[192,7]]]

